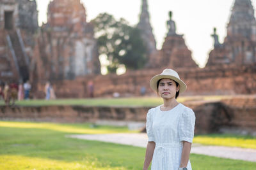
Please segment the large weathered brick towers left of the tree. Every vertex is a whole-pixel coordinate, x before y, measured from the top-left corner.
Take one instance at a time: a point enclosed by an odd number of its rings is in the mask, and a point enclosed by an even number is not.
[[[38,27],[36,1],[0,2],[0,80],[70,80],[99,74],[93,25],[79,0],[51,1],[48,21]]]

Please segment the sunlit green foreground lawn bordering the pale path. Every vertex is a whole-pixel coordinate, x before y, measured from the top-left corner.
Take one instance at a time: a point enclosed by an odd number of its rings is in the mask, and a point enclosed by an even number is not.
[[[0,122],[0,169],[142,169],[145,148],[65,138],[130,132],[89,124]],[[255,169],[256,162],[191,154],[193,170]]]

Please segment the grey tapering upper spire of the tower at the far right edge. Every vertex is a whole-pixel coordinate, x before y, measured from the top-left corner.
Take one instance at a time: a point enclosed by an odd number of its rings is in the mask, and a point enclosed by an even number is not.
[[[236,0],[227,26],[230,37],[252,38],[256,35],[256,20],[251,0]]]

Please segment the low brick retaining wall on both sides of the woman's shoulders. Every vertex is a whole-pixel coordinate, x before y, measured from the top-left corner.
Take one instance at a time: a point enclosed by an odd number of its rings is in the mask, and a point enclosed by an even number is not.
[[[256,135],[256,96],[223,101],[188,101],[196,116],[195,133],[228,132]],[[125,106],[1,106],[0,120],[38,122],[144,122],[152,107]]]

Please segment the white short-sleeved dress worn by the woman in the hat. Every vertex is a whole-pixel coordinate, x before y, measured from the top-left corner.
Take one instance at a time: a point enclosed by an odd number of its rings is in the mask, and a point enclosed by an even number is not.
[[[160,107],[147,113],[148,141],[156,143],[151,169],[178,170],[182,141],[192,143],[194,137],[195,113],[180,103],[168,111],[161,111]],[[190,162],[187,168],[192,169]]]

